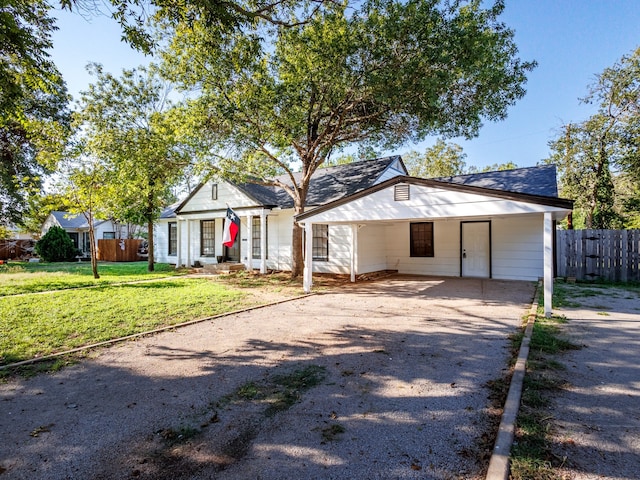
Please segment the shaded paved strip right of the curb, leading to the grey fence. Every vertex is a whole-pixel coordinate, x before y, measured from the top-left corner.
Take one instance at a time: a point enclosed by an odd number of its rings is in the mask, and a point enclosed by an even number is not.
[[[574,285],[580,308],[557,309],[581,345],[560,361],[567,387],[554,399],[554,454],[576,480],[640,478],[640,294]]]

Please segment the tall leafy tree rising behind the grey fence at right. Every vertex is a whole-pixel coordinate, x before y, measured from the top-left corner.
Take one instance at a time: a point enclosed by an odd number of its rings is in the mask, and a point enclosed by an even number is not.
[[[596,105],[597,112],[567,125],[550,142],[547,161],[558,165],[561,194],[575,199],[577,226],[618,228],[624,217],[635,224],[637,197],[632,187],[640,182],[640,48],[598,75],[582,101]]]

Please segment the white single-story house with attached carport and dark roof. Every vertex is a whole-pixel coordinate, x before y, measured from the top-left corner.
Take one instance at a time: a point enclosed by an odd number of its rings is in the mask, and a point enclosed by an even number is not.
[[[242,220],[231,249],[222,245],[227,205]],[[421,179],[407,176],[394,156],[318,170],[296,218],[282,189],[211,180],[163,212],[155,251],[176,265],[224,258],[262,272],[288,270],[295,220],[306,232],[307,291],[312,272],[355,281],[380,270],[544,277],[552,288],[555,222],[571,209],[558,198],[554,166]]]

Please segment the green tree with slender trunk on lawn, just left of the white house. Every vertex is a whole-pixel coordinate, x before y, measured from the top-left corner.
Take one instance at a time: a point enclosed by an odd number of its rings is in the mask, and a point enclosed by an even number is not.
[[[167,84],[153,68],[124,70],[121,77],[92,65],[96,82],[82,93],[77,114],[83,151],[105,162],[112,185],[110,212],[145,224],[149,271],[154,269],[153,224],[169,203],[171,187],[191,162],[191,152],[171,119]]]

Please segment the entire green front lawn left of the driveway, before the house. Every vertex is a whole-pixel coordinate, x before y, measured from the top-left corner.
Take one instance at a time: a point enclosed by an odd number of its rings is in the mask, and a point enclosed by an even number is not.
[[[210,317],[302,293],[283,275],[193,278],[146,262],[5,265],[0,269],[0,365]]]

